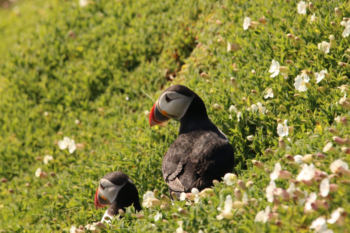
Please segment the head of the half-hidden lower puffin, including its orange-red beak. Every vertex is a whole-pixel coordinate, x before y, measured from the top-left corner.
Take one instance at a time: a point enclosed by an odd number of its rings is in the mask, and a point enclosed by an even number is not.
[[[99,182],[95,194],[94,204],[96,209],[100,209],[113,203],[118,195],[118,192],[125,184],[133,182],[123,172],[111,172],[105,175]]]

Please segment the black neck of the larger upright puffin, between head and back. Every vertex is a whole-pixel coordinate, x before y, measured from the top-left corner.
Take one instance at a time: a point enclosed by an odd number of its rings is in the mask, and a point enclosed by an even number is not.
[[[216,126],[210,121],[203,100],[196,95],[180,119],[179,135],[201,129],[216,129]]]

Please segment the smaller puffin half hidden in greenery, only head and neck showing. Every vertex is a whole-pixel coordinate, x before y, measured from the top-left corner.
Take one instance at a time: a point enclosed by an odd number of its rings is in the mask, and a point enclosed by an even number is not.
[[[111,223],[111,220],[106,220],[105,217],[112,219],[114,215],[119,214],[120,209],[125,212],[125,209],[132,204],[135,210],[142,210],[138,190],[125,173],[111,172],[98,182],[94,199],[95,208],[98,210],[109,206],[101,222]]]

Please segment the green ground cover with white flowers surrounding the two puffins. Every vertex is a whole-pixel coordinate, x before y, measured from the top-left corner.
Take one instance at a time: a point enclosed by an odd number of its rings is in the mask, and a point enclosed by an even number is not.
[[[350,5],[266,3],[3,5],[0,232],[349,232]],[[173,205],[161,161],[179,123],[147,114],[176,83],[237,164]],[[116,170],[144,210],[104,226],[93,197]]]

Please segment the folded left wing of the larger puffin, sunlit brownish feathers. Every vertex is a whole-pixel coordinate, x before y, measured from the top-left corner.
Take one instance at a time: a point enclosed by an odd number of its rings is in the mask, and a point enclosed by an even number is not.
[[[165,182],[172,190],[183,192],[184,187],[177,176],[188,161],[188,148],[183,147],[182,140],[178,139],[169,147],[163,159],[162,172]]]

